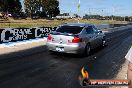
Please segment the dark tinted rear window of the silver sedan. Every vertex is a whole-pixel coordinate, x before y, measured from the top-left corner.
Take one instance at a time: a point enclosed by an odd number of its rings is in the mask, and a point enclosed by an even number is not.
[[[56,32],[78,34],[82,31],[83,27],[80,26],[61,26]]]

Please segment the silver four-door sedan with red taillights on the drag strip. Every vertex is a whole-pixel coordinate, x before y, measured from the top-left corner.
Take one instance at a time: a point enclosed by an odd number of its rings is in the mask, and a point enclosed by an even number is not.
[[[105,35],[94,25],[67,23],[48,35],[49,51],[89,55],[91,49],[105,45]]]

